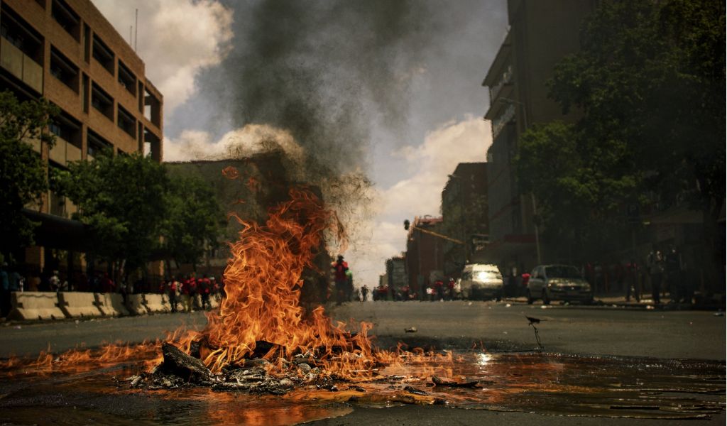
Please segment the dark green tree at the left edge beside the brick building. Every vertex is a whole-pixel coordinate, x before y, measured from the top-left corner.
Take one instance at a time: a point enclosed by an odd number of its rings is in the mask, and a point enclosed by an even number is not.
[[[55,141],[45,132],[57,108],[47,100],[19,102],[11,92],[0,93],[0,253],[9,254],[33,244],[38,225],[23,208],[40,204],[48,190],[47,169],[28,143]]]

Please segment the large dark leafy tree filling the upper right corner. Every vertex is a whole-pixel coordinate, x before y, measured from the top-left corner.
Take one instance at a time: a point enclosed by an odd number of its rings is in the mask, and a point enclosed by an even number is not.
[[[551,224],[567,220],[556,204],[569,196],[585,203],[578,215],[588,219],[646,194],[661,206],[689,201],[704,212],[715,254],[725,196],[725,4],[605,1],[585,23],[581,47],[556,66],[550,90],[581,118],[523,136],[521,182],[547,194]],[[539,156],[569,164],[550,163],[537,181]]]

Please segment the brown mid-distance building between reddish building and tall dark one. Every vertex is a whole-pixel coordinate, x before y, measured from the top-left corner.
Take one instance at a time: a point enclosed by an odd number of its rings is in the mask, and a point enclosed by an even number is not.
[[[466,263],[478,260],[489,234],[487,163],[459,163],[442,190],[442,230],[462,241],[444,241],[444,275],[459,278]]]

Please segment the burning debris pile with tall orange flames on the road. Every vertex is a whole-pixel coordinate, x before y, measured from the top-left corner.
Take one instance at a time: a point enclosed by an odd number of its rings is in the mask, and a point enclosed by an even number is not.
[[[239,219],[238,219],[239,220]],[[323,307],[300,305],[301,279],[335,214],[308,190],[270,210],[265,225],[240,220],[243,230],[230,247],[219,312],[207,315],[203,331],[161,345],[161,363],[130,378],[132,387],[177,387],[186,383],[217,390],[285,393],[296,385],[332,388],[337,380],[369,379],[385,353],[371,349],[368,323],[350,333]]]

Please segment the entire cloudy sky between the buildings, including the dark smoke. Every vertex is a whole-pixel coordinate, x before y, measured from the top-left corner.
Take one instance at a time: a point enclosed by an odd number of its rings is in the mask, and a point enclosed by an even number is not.
[[[505,0],[92,1],[124,38],[139,10],[130,44],[164,95],[164,161],[282,131],[310,169],[369,178],[345,252],[356,286],[406,249],[403,220],[440,214],[458,163],[486,159]]]

